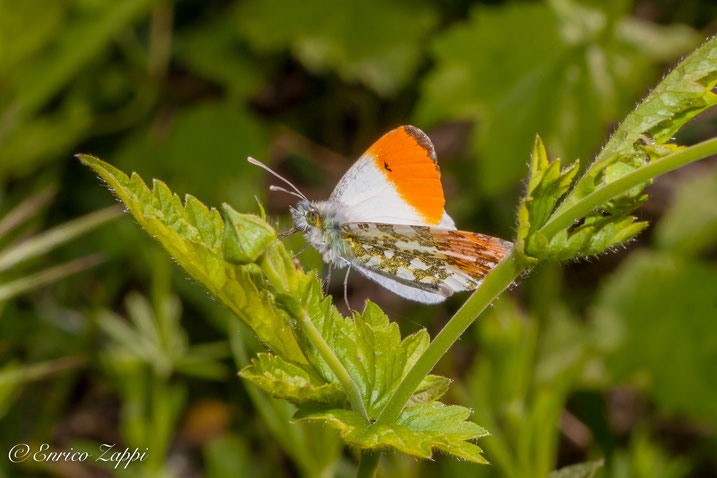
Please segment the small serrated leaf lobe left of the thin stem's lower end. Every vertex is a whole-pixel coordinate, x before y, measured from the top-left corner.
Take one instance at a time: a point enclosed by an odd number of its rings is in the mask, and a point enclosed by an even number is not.
[[[346,403],[346,394],[338,382],[324,382],[276,355],[258,354],[239,375],[275,398],[287,400],[297,407],[340,407]]]

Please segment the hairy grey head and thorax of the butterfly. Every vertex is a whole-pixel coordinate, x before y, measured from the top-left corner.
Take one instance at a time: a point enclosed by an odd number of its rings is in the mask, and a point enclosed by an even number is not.
[[[300,201],[291,208],[294,227],[304,233],[325,262],[339,267],[346,265],[351,254],[350,245],[341,239],[343,216],[341,205],[328,201]]]

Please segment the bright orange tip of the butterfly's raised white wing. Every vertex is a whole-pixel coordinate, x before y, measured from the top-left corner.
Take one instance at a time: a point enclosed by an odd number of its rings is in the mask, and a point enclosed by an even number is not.
[[[426,133],[415,126],[400,126],[383,135],[366,153],[427,224],[441,222],[445,206],[441,172],[436,150]]]

